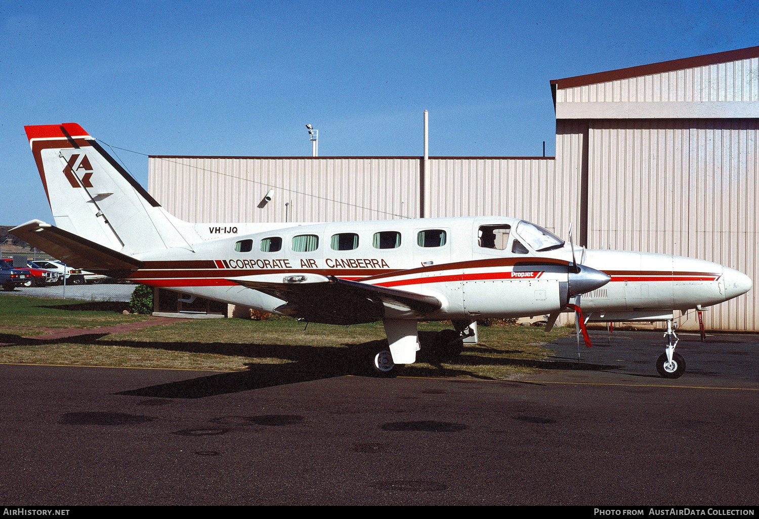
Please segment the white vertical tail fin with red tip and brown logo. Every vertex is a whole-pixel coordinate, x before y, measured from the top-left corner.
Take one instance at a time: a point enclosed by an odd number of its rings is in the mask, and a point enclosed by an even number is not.
[[[79,124],[24,129],[59,228],[125,254],[192,249],[191,227],[169,215]]]

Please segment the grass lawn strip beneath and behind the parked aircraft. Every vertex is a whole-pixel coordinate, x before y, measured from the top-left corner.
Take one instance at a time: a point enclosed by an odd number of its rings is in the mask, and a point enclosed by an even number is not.
[[[12,305],[16,300],[23,301]],[[124,316],[114,310],[67,309],[68,304],[71,302],[0,296],[0,342],[14,342],[9,338],[23,342],[20,336],[33,337],[39,333],[33,327],[93,328],[147,319]],[[32,322],[28,320],[30,317]],[[450,325],[420,323],[419,326],[420,332],[444,328]],[[96,334],[97,329],[92,331]],[[403,375],[507,379],[534,371],[534,366],[550,354],[546,343],[572,331],[557,328],[545,333],[543,329],[525,326],[480,326],[480,344],[465,347],[454,361],[414,363],[406,366]],[[310,324],[306,328],[304,323],[287,318],[187,319],[134,332],[2,346],[0,363],[251,370],[262,376],[285,378],[296,373],[339,376],[364,373],[371,348],[384,340],[382,323]]]

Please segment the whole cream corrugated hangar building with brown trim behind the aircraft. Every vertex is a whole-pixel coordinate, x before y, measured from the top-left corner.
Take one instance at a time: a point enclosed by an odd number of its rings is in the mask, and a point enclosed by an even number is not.
[[[563,237],[572,223],[587,247],[708,259],[757,286],[759,46],[550,86],[556,157],[150,156],[149,190],[191,222],[509,215]],[[704,320],[759,331],[759,289]]]

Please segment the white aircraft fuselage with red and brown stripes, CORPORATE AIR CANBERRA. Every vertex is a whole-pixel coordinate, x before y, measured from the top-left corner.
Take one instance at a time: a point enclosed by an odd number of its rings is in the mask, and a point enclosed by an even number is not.
[[[567,302],[566,266],[572,262],[572,249],[563,244],[536,250],[530,237],[520,234],[519,224],[518,219],[494,216],[269,224],[263,231],[257,224],[197,224],[195,230],[206,239],[193,244],[194,252],[174,248],[136,255],[146,265],[130,278],[268,312],[283,301],[236,281],[281,283],[288,275],[332,275],[433,295],[443,305],[429,319],[536,316],[561,310]],[[483,247],[482,229],[497,226],[510,229],[496,247]],[[254,228],[257,232],[250,232]],[[528,228],[522,228],[527,234]],[[380,237],[385,243],[380,243],[379,233],[385,233]],[[422,246],[420,233],[431,235],[436,246],[429,240]],[[339,250],[346,248],[341,234],[354,234],[348,237],[348,250]],[[388,244],[386,238],[393,235],[395,242]],[[280,240],[279,250],[266,251]],[[241,246],[245,241],[250,242]],[[663,318],[672,310],[718,304],[751,288],[742,273],[700,259],[580,248],[575,254],[578,263],[611,276],[608,284],[581,296],[581,307],[593,320]]]

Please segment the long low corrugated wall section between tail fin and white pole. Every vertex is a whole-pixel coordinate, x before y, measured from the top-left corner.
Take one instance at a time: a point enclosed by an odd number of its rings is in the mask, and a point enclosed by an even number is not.
[[[148,190],[187,222],[416,218],[417,157],[150,157]],[[269,189],[272,201],[260,206]],[[285,206],[288,203],[288,206]]]

